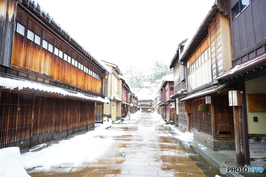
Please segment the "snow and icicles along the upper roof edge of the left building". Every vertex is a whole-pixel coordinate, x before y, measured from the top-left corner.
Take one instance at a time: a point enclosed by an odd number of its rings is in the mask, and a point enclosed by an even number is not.
[[[65,38],[68,39],[67,41],[69,41],[70,45],[73,46],[74,44],[75,47],[78,47],[79,49],[81,49],[83,51],[83,54],[85,55],[85,58],[86,56],[88,56],[87,58],[88,60],[90,59],[91,61],[94,61],[95,64],[98,65],[107,74],[111,74],[112,71],[108,67],[105,67],[104,63],[101,60],[94,58],[94,56],[92,56],[90,52],[84,46],[80,45],[76,40],[74,40],[73,37],[71,37],[71,35],[63,27],[61,27],[60,24],[57,23],[48,14],[48,12],[46,12],[44,8],[40,6],[40,4],[37,1],[34,1],[34,0],[23,0],[23,1],[26,4],[26,8],[28,8],[30,11],[34,11],[35,13],[38,13],[40,17],[44,18],[47,23],[52,24],[58,30],[58,31],[55,30],[55,32],[63,34]],[[72,42],[73,44],[71,44],[70,42]]]

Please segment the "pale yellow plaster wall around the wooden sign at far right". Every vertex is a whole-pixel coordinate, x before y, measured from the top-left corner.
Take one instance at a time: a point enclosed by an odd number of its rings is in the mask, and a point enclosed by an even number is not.
[[[248,112],[247,94],[266,94],[266,76],[245,82],[249,134],[266,134],[266,112]],[[253,122],[253,116],[258,122]]]

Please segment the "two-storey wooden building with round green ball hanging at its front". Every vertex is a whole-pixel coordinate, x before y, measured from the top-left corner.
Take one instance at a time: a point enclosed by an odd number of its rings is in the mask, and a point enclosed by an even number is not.
[[[178,106],[179,128],[193,132],[213,150],[235,149],[233,109],[228,105],[232,83],[216,80],[231,68],[228,11],[227,3],[216,1],[193,38],[180,43],[184,49],[177,50],[170,65],[177,80],[172,98]],[[199,110],[201,104],[207,107],[205,112]]]

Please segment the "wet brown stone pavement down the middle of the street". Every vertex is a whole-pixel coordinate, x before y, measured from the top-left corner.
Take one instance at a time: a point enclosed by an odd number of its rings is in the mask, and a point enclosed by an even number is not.
[[[125,126],[122,126],[125,124]],[[130,124],[130,126],[127,126]],[[111,129],[127,131],[128,135],[112,137],[113,146],[94,163],[83,163],[66,170],[53,167],[49,171],[28,171],[32,177],[152,177],[152,176],[224,176],[216,167],[192,152],[189,144],[174,139],[168,127],[151,121],[151,113],[139,114]],[[109,130],[108,129],[108,130]],[[174,135],[173,135],[174,136]],[[105,138],[105,137],[102,137]]]

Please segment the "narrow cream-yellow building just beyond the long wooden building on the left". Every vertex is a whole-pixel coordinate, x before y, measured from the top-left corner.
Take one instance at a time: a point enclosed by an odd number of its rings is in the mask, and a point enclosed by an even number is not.
[[[103,61],[112,71],[108,76],[108,98],[110,104],[104,104],[104,113],[112,115],[112,120],[121,119],[122,112],[122,80],[119,75],[122,75],[121,70],[116,64]]]

